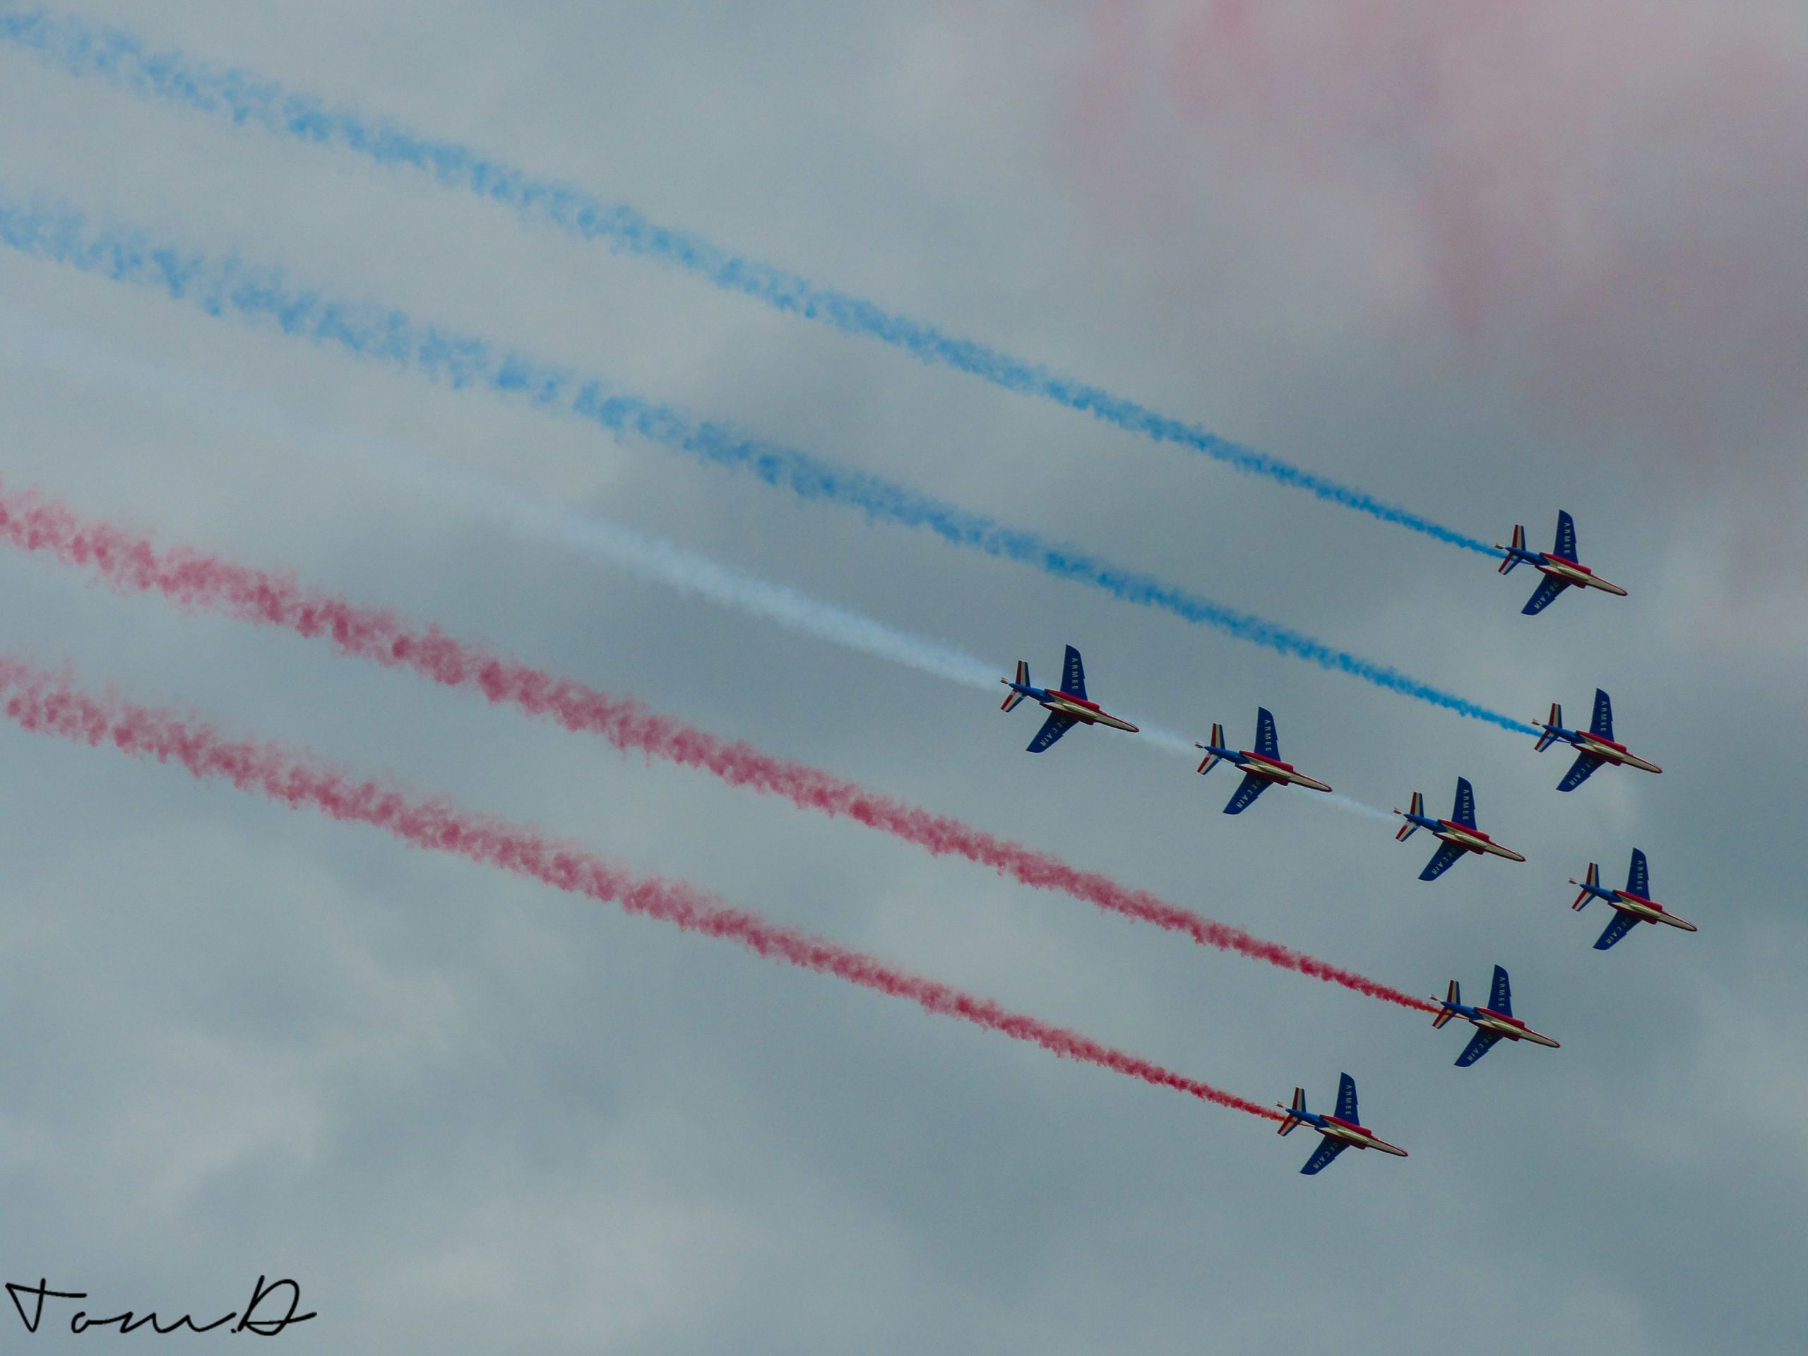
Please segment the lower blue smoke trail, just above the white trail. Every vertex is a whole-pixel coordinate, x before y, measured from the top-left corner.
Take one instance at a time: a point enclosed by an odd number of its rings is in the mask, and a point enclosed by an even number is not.
[[[1347,673],[1461,716],[1522,734],[1539,732],[1524,721],[1466,702],[1398,669],[1332,649],[1298,631],[1211,602],[1152,575],[1125,570],[1072,546],[1043,541],[1032,532],[1007,528],[994,519],[879,476],[835,466],[783,443],[743,434],[730,425],[692,419],[671,405],[611,391],[600,378],[580,376],[515,349],[412,320],[398,309],[297,287],[277,268],[250,266],[233,255],[208,259],[174,244],[159,244],[137,228],[94,226],[74,208],[20,204],[4,193],[0,193],[0,242],[24,255],[67,264],[83,273],[168,293],[170,298],[199,306],[213,316],[231,316],[259,327],[275,325],[284,334],[414,372],[456,391],[483,387],[501,396],[528,400],[542,410],[573,414],[617,438],[636,434],[673,452],[749,472],[767,485],[790,490],[799,499],[855,508],[868,523],[928,528],[955,546],[1018,560],[1056,579],[1101,589],[1114,598],[1164,611],[1195,626],[1210,626],[1238,640],[1309,660],[1322,669]]]

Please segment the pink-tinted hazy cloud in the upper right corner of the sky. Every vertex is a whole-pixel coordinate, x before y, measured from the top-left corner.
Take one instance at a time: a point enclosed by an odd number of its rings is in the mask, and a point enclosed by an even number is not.
[[[1191,175],[1287,217],[1276,250],[1360,233],[1370,304],[1624,432],[1765,461],[1808,423],[1799,27],[1653,0],[1090,14],[1063,132],[1114,215],[1172,226]]]

